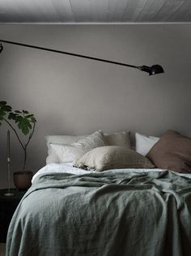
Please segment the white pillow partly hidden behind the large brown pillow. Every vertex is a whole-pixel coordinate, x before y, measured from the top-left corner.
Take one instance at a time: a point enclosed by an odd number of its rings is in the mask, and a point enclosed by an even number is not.
[[[158,137],[146,136],[143,134],[135,133],[136,151],[142,156],[146,156],[151,147],[155,145],[159,140]]]

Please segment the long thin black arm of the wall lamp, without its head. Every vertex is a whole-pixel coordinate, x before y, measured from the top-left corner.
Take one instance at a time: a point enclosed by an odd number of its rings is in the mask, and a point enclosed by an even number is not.
[[[129,67],[134,67],[134,68],[139,67],[139,66],[129,65],[129,64],[126,64],[126,63],[121,63],[121,62],[112,62],[112,61],[105,60],[103,58],[94,58],[94,57],[90,57],[90,56],[87,56],[87,55],[81,55],[81,54],[77,54],[77,53],[69,53],[69,52],[64,52],[64,51],[60,51],[60,50],[57,50],[57,49],[49,49],[49,48],[39,47],[39,46],[35,46],[35,45],[26,45],[26,44],[13,42],[13,41],[0,40],[0,42],[6,43],[6,44],[11,44],[11,45],[20,45],[20,46],[24,46],[24,47],[33,48],[33,49],[42,49],[44,51],[49,51],[49,52],[53,52],[53,53],[62,53],[62,54],[75,56],[75,57],[79,57],[79,58],[87,58],[87,59],[91,59],[91,60],[98,61],[98,62],[108,62],[108,63],[111,63],[111,64],[120,65],[120,66],[129,66]]]

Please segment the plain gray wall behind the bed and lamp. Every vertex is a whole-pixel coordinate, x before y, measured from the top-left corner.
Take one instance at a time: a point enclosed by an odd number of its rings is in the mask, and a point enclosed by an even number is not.
[[[45,164],[45,134],[137,130],[191,135],[191,24],[1,25],[0,38],[133,65],[159,63],[163,75],[81,58],[4,45],[0,100],[28,109],[37,126],[28,169]],[[6,130],[0,128],[0,188],[6,187]],[[11,172],[22,151],[11,133]]]

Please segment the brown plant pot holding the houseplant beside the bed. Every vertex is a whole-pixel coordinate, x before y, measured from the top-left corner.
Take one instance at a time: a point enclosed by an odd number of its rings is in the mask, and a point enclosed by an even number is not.
[[[18,190],[28,190],[32,186],[32,175],[33,173],[30,171],[13,173],[15,187]]]

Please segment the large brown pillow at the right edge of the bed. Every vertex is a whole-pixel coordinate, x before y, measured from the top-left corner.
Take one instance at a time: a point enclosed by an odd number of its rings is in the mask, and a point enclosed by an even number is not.
[[[159,169],[191,173],[191,138],[175,130],[168,130],[146,157]]]

